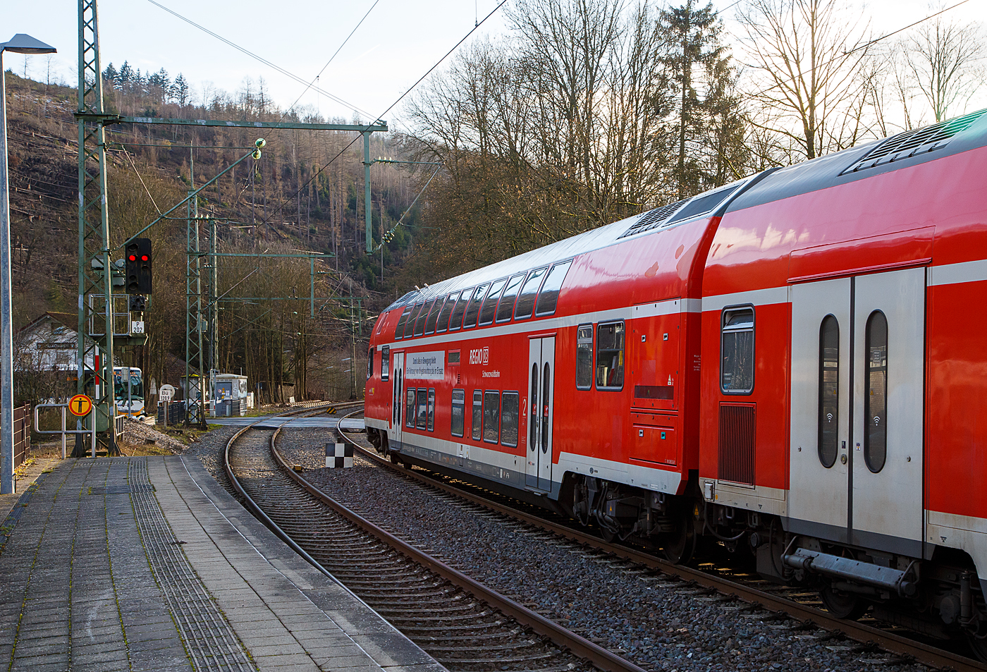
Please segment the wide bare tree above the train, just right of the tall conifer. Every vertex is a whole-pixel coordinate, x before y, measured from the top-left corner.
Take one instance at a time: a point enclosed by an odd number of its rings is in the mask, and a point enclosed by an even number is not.
[[[843,0],[748,0],[737,20],[758,89],[752,122],[794,149],[791,160],[848,147],[870,132],[859,76],[871,40],[861,13]]]

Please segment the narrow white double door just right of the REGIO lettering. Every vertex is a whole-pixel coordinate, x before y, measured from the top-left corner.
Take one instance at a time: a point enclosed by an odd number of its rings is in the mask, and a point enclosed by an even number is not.
[[[555,336],[528,341],[528,457],[525,485],[552,489]]]

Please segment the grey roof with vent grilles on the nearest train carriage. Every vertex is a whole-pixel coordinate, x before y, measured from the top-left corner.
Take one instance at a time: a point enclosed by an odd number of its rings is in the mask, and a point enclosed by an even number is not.
[[[726,212],[845,185],[987,145],[987,110],[906,130],[772,173],[734,198]]]

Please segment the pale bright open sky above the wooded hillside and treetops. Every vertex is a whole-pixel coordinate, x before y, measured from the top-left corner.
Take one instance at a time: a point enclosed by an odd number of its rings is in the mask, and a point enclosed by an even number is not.
[[[504,12],[511,1],[494,11],[499,0],[155,0],[305,82],[323,70],[363,19],[318,80],[319,88],[351,107],[315,90],[306,91],[304,84],[190,26],[151,0],[100,0],[101,56],[104,68],[109,63],[119,68],[126,60],[141,72],[164,68],[173,78],[181,72],[198,99],[210,89],[234,93],[246,78],[256,87],[263,77],[282,109],[297,100],[299,106],[329,118],[383,116],[393,129],[401,126],[401,104],[388,109],[478,20],[493,12],[464,45],[506,34]],[[947,0],[946,6],[956,2]],[[733,4],[733,0],[713,2],[723,11],[728,33],[733,28]],[[40,81],[50,71],[51,81],[75,86],[78,3],[4,0],[4,5],[0,39],[27,33],[58,49],[50,58],[5,54],[5,69],[24,74],[27,67],[28,76]],[[871,0],[855,5],[865,10],[880,35],[932,13],[928,0]],[[987,24],[987,0],[967,0],[945,16]]]

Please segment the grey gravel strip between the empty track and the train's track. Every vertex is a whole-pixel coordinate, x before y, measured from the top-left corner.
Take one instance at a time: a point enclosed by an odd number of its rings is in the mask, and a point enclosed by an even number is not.
[[[621,571],[626,562],[496,514],[478,515],[468,503],[436,497],[359,457],[352,469],[325,469],[324,446],[333,440],[325,429],[287,429],[279,449],[315,485],[393,534],[455,559],[461,571],[645,669],[929,669],[673,578]]]

